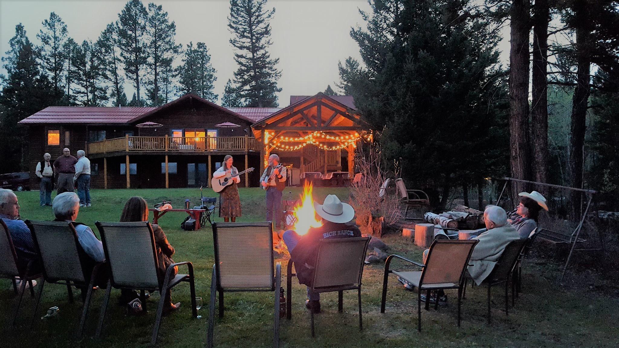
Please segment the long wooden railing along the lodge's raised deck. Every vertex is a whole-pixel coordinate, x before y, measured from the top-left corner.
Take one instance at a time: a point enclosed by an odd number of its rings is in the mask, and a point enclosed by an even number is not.
[[[259,151],[260,144],[253,137],[150,137],[126,136],[90,142],[89,154],[117,151]]]

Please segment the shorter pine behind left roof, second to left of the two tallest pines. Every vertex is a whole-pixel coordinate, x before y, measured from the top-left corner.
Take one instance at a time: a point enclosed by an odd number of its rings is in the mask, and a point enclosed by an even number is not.
[[[74,82],[77,87],[72,92],[76,95],[79,105],[98,107],[107,102],[102,60],[101,48],[86,40],[72,54],[71,65],[75,72]]]

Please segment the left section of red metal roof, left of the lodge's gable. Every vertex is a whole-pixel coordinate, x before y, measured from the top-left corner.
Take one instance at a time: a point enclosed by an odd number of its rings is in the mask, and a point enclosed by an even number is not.
[[[156,107],[47,107],[19,123],[128,123]]]

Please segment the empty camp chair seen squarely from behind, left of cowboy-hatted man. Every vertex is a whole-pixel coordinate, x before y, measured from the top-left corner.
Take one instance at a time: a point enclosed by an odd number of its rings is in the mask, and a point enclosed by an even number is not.
[[[274,292],[273,346],[279,347],[282,265],[278,262],[273,267],[272,222],[214,222],[213,245],[215,264],[210,283],[207,347],[213,347],[215,293],[219,292],[219,318],[223,318],[223,292],[233,291]]]

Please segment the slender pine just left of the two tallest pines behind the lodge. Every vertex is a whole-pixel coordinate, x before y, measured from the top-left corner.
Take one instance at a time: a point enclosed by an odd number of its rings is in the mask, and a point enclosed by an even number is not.
[[[97,46],[101,49],[102,67],[105,70],[105,77],[111,85],[110,100],[113,105],[127,105],[121,103],[121,96],[124,94],[124,78],[120,75],[120,54],[118,50],[118,34],[114,23],[107,25],[97,40]],[[126,96],[124,97],[126,101]]]

